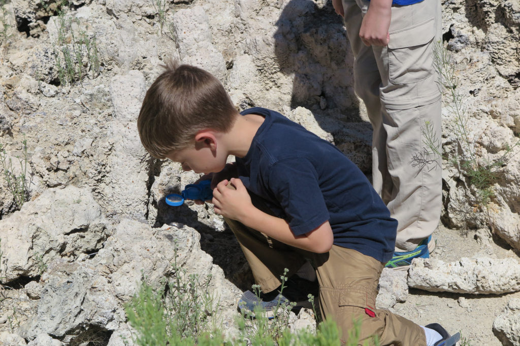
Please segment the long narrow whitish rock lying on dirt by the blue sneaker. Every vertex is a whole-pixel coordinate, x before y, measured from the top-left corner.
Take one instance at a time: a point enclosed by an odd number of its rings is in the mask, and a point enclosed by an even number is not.
[[[450,263],[435,258],[417,258],[408,272],[408,286],[430,292],[516,292],[520,290],[520,264],[514,258],[462,258]]]

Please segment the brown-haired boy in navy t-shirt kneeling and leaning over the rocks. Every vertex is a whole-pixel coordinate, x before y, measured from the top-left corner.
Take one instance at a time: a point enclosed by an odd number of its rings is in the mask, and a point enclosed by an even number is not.
[[[360,319],[360,342],[377,335],[384,345],[455,343],[445,343],[449,335],[438,324],[422,327],[375,308],[397,222],[335,146],[273,110],[238,113],[214,76],[174,63],[148,90],[137,126],[152,156],[214,173],[215,212],[235,233],[267,308],[285,299],[277,292],[284,268],[295,273],[308,260],[321,314],[342,338]],[[226,165],[229,155],[236,162]],[[250,292],[241,300],[258,303]]]

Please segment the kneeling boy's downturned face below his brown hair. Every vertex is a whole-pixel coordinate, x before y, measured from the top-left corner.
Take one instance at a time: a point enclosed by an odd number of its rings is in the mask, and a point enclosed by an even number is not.
[[[166,156],[168,159],[180,162],[184,171],[195,173],[217,173],[224,169],[226,157],[219,157],[211,148],[195,147],[172,151]]]

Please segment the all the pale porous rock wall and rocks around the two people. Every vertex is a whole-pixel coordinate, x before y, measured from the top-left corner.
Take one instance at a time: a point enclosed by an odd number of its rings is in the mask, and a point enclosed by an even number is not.
[[[165,2],[163,23],[150,1],[70,4],[3,5],[0,144],[20,174],[17,157],[27,140],[28,201],[18,211],[0,179],[0,290],[9,298],[0,302],[0,343],[68,344],[82,331],[97,330],[109,345],[124,344],[123,337],[132,339],[124,303],[143,276],[157,283],[172,275],[175,244],[183,269],[210,280],[219,293],[223,326],[232,334],[237,286],[248,288],[251,273],[211,205],[173,209],[164,203],[167,193],[180,192],[198,175],[146,153],[135,125],[140,103],[168,58],[195,64],[222,80],[238,109],[278,110],[334,143],[369,175],[371,127],[354,94],[343,23],[327,0],[174,0]],[[483,206],[470,177],[450,163],[461,155],[460,133],[457,116],[445,107],[443,222],[489,228],[520,249],[520,156],[514,155],[520,3],[453,0],[443,10],[469,147],[483,164],[504,159],[493,168],[494,193]],[[99,70],[72,85],[59,79],[57,57],[65,46],[58,39],[64,34],[69,47],[74,40],[71,31],[60,31],[62,20],[72,22],[76,38],[80,30],[96,37],[98,47]],[[518,289],[517,273],[512,261],[422,260],[408,282],[503,293]],[[383,272],[378,307],[406,299],[404,280],[402,272]],[[13,328],[15,319],[20,326]],[[313,325],[304,313],[293,322],[293,329]]]

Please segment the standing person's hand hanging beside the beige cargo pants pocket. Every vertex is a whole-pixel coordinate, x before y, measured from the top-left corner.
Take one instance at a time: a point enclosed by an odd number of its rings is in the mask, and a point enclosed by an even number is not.
[[[390,41],[388,28],[392,19],[392,0],[371,0],[361,22],[359,37],[366,46],[386,46]]]

